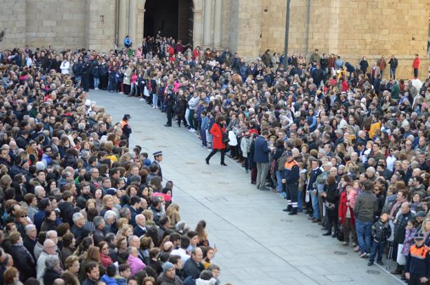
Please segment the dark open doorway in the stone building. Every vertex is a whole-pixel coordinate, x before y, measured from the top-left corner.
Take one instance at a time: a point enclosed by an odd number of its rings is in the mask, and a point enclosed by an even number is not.
[[[193,41],[193,0],[146,0],[144,36],[173,36],[183,44]]]

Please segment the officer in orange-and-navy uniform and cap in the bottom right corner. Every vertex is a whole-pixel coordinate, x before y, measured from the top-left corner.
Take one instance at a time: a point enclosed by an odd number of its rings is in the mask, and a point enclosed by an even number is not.
[[[405,277],[409,285],[428,284],[430,279],[430,248],[424,244],[424,235],[420,232],[414,238],[406,257]]]

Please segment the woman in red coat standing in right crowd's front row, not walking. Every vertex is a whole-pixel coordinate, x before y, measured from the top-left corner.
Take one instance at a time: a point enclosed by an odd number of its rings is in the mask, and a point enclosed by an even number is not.
[[[346,191],[340,194],[339,201],[339,223],[342,224],[344,229],[344,246],[349,245],[349,231],[352,232],[352,246],[357,246],[357,233],[356,233],[356,219],[354,218],[354,211],[349,203],[349,192],[351,185],[346,187]],[[356,250],[356,249],[354,249]]]

